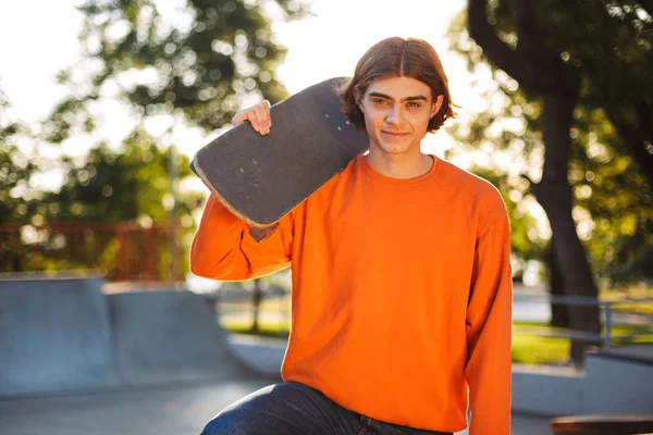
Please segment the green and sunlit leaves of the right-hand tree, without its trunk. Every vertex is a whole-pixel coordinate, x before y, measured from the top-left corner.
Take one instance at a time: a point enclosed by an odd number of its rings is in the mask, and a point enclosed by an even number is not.
[[[651,261],[653,248],[653,94],[646,90],[653,85],[651,4],[538,0],[532,7],[541,29],[537,37],[579,75],[568,166],[579,236],[595,273],[642,278],[642,262]],[[486,12],[498,38],[515,49],[528,33],[519,35],[512,8],[509,1],[494,0]],[[486,97],[501,103],[452,132],[468,149],[507,152],[508,191],[514,198],[531,199],[530,184],[519,175],[541,176],[542,89],[529,82],[531,72],[523,71],[517,82],[488,62],[483,50],[468,39],[465,18],[459,16],[452,26],[451,46],[467,59],[471,72],[490,64],[495,87]],[[541,246],[537,233],[529,239]],[[537,252],[527,256],[537,258]]]

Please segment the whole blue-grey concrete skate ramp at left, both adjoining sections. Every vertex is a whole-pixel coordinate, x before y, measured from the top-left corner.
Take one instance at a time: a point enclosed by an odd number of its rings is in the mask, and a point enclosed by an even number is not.
[[[100,278],[0,279],[0,398],[261,380],[200,296]]]

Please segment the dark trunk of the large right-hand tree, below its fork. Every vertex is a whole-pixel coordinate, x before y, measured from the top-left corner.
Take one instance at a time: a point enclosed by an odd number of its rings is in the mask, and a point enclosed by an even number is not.
[[[596,298],[599,290],[571,216],[571,186],[567,178],[571,146],[569,129],[576,98],[545,95],[543,100],[544,171],[535,187],[535,197],[551,223],[553,253],[563,276],[565,295]],[[597,306],[568,306],[568,312],[574,331],[601,332]],[[571,360],[582,363],[586,347],[597,344],[601,341],[574,339]]]

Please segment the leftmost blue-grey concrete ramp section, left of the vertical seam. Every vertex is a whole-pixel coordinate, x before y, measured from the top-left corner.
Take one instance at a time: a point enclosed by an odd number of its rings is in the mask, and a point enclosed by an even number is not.
[[[119,381],[101,279],[0,279],[0,397]]]

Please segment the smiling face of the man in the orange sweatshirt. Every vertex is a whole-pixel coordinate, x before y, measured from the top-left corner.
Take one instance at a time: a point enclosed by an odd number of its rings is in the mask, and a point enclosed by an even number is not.
[[[386,77],[372,82],[362,98],[357,97],[365,114],[370,148],[390,154],[420,152],[429,120],[442,105],[434,101],[431,88],[411,77]]]

